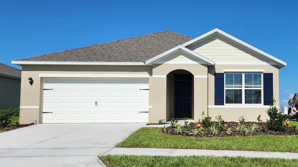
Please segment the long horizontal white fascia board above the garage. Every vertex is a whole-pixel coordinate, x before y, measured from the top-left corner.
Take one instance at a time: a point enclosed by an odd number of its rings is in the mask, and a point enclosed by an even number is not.
[[[147,65],[144,62],[45,62],[45,61],[11,61],[12,64],[23,65]]]

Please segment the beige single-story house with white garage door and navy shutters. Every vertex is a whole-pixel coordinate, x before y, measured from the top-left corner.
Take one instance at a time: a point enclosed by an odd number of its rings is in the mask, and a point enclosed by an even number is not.
[[[266,120],[286,66],[220,29],[196,38],[160,31],[12,63],[22,66],[21,123],[198,121],[202,111]]]

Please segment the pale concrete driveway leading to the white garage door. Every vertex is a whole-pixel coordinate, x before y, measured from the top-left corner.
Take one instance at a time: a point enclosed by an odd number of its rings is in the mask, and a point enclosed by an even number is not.
[[[101,155],[145,123],[38,124],[0,133],[0,166],[103,166]]]

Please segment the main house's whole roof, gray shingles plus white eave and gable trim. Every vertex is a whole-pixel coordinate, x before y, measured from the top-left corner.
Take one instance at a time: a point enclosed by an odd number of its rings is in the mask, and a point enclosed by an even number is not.
[[[269,55],[219,29],[214,29],[197,38],[188,37],[172,31],[160,31],[152,34],[126,38],[112,42],[105,42],[82,48],[69,49],[55,53],[34,56],[30,58],[12,61],[13,64],[67,64],[67,65],[150,65],[151,62],[173,53],[173,49],[182,49],[192,56],[214,65],[216,62],[201,56],[189,49],[187,46],[200,42],[211,35],[218,33],[243,48],[278,64],[280,67],[286,65],[280,59]]]

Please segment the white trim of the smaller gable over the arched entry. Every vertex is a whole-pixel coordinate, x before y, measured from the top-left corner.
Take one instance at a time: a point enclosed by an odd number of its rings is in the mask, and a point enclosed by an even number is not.
[[[153,57],[153,58],[147,60],[147,61],[145,62],[145,64],[150,64],[150,63],[152,63],[152,62],[154,62],[154,61],[156,61],[156,60],[161,59],[162,57],[165,57],[165,56],[167,56],[167,55],[169,55],[169,54],[171,54],[171,53],[173,53],[173,52],[179,50],[179,49],[181,49],[181,50],[183,50],[183,51],[185,51],[185,52],[191,54],[192,56],[194,56],[195,58],[197,58],[197,59],[199,59],[199,60],[203,60],[204,62],[207,62],[208,65],[214,65],[214,64],[215,64],[215,62],[213,62],[212,60],[209,60],[209,59],[207,59],[206,57],[201,56],[201,55],[199,55],[198,53],[195,53],[194,51],[191,51],[191,50],[189,50],[189,49],[187,49],[187,48],[185,48],[185,47],[183,47],[183,46],[181,46],[181,45],[178,45],[178,46],[176,46],[175,48],[172,48],[172,49],[170,49],[170,50],[168,50],[168,51],[165,51],[165,52],[162,53],[162,54],[159,54],[159,55],[157,55],[157,56],[155,56],[155,57]]]

